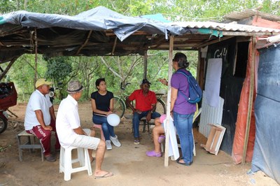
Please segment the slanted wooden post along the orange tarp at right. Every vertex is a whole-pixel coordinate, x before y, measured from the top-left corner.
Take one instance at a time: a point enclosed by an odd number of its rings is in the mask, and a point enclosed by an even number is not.
[[[248,99],[248,114],[246,120],[246,131],[244,138],[244,146],[243,146],[243,155],[241,164],[244,165],[246,161],[246,152],[248,148],[248,137],[251,126],[251,115],[252,115],[252,107],[253,107],[253,90],[255,85],[255,37],[252,37],[251,41],[251,64],[250,64],[250,90],[249,90],[249,99]]]

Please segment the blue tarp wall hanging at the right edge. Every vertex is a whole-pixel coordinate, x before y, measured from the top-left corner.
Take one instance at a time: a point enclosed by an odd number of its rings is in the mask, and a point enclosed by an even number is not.
[[[259,50],[252,171],[280,184],[280,45]]]

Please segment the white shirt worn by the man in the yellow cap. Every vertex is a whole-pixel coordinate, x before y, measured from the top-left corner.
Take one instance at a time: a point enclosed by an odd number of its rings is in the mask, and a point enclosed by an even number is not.
[[[45,96],[38,90],[35,90],[28,101],[26,113],[25,113],[25,130],[30,130],[33,127],[40,125],[37,120],[35,110],[41,110],[43,113],[43,120],[45,125],[50,125],[50,96]]]

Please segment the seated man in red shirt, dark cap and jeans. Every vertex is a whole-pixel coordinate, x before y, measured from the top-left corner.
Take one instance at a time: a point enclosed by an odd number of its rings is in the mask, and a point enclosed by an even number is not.
[[[155,92],[150,91],[151,83],[148,80],[142,80],[140,90],[134,90],[132,94],[127,97],[126,103],[133,111],[133,131],[134,131],[134,144],[139,145],[139,123],[142,117],[146,117],[147,122],[156,117],[160,117],[160,113],[155,112],[157,98]],[[132,106],[131,101],[136,101],[136,106]]]

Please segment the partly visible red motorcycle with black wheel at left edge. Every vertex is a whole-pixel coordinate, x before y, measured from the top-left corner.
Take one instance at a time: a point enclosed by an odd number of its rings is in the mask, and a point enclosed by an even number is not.
[[[0,83],[0,134],[8,127],[8,114],[6,110],[17,104],[18,93],[13,82]]]

